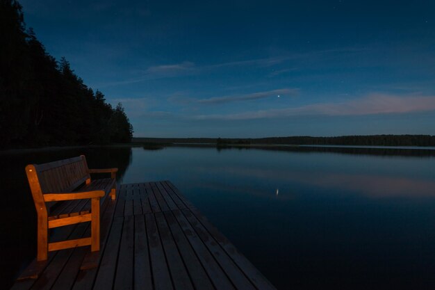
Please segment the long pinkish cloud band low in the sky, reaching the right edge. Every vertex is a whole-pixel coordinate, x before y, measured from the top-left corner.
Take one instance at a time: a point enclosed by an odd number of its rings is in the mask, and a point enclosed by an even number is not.
[[[198,120],[252,120],[263,118],[286,118],[298,115],[375,115],[413,113],[435,110],[435,96],[402,97],[372,94],[345,102],[310,104],[298,107],[261,111],[248,111],[227,115],[198,115]]]

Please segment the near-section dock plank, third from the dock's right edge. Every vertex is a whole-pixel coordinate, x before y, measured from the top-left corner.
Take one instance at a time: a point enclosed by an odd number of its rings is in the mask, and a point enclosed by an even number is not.
[[[204,266],[204,269],[210,277],[213,285],[217,290],[225,290],[225,289],[235,289],[233,284],[231,284],[227,275],[222,271],[219,264],[215,261],[211,253],[208,251],[208,248],[199,236],[196,234],[195,230],[192,228],[186,217],[181,213],[179,209],[175,209],[172,211],[174,217],[179,223],[181,229],[186,234],[186,238],[188,239],[190,245],[192,245],[193,250],[197,254],[199,261]]]

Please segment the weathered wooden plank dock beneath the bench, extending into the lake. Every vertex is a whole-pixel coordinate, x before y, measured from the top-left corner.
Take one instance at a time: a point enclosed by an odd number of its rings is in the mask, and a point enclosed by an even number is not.
[[[101,250],[33,261],[12,289],[275,289],[170,182],[122,184],[101,207]],[[57,229],[78,239],[89,223]]]

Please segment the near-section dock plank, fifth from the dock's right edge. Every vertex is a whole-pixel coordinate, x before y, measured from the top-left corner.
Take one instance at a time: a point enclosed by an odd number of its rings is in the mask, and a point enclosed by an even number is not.
[[[158,232],[162,241],[163,250],[165,250],[167,266],[169,267],[171,273],[174,288],[193,290],[193,285],[190,281],[188,271],[183,264],[183,259],[181,259],[177,245],[172,238],[172,234],[166,223],[165,216],[163,216],[163,211],[156,213],[154,217],[156,218]]]

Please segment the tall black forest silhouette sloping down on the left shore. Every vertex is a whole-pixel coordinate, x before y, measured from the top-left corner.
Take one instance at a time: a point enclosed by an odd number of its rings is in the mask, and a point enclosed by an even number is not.
[[[113,108],[65,58],[50,56],[15,0],[0,0],[0,41],[0,147],[131,140],[122,104]]]

